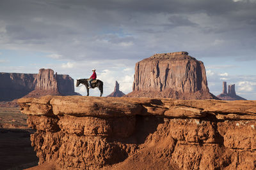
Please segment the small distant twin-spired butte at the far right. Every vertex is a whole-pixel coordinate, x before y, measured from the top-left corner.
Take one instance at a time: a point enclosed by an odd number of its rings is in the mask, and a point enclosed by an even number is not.
[[[221,100],[224,101],[237,101],[237,100],[246,100],[243,97],[236,95],[235,85],[228,85],[228,92],[227,92],[227,82],[223,81],[223,90],[220,95],[217,96]]]

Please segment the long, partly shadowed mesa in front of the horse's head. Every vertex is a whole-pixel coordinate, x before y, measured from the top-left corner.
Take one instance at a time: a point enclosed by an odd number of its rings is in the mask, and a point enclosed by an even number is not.
[[[52,69],[40,69],[38,74],[0,73],[0,101],[20,97],[45,95],[79,95],[74,92],[74,80],[65,74],[54,74]]]

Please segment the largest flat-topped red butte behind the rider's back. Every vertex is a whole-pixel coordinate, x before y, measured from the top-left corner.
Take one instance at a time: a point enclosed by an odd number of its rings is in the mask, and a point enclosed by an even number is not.
[[[218,99],[209,92],[204,63],[188,52],[157,53],[136,63],[128,97]]]

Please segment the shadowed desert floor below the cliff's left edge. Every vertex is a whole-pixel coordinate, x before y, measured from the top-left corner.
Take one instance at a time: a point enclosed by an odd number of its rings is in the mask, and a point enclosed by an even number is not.
[[[26,119],[19,108],[0,108],[0,169],[25,169],[38,164],[30,141],[34,130],[27,127]]]

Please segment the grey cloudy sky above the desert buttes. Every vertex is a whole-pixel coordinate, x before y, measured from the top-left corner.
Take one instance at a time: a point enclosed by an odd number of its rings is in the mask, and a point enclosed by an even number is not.
[[[204,62],[213,94],[227,81],[256,100],[255,9],[256,0],[0,0],[0,72],[44,67],[76,80],[96,68],[104,96],[115,80],[127,94],[136,62],[186,51]]]

